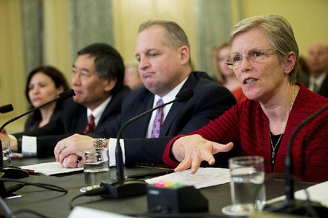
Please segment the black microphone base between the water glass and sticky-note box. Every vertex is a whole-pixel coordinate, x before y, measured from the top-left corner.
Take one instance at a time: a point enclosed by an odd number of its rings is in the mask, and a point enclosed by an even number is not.
[[[101,186],[104,186],[107,189],[107,192],[101,194],[101,197],[110,199],[145,194],[147,189],[147,183],[145,181],[133,179],[126,179],[114,183],[103,181],[100,184],[100,187]]]

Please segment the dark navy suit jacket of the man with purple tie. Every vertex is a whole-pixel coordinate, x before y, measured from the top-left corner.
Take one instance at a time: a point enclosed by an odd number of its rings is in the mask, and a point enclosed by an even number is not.
[[[160,130],[160,138],[146,139],[151,114],[129,124],[122,132],[125,140],[126,165],[135,163],[163,163],[162,154],[174,136],[191,133],[207,125],[236,104],[232,93],[213,81],[204,72],[192,72],[182,89],[191,88],[194,96],[184,103],[173,103]],[[154,94],[145,87],[134,90],[122,104],[122,113],[114,122],[88,134],[93,137],[115,137],[126,121],[153,107]]]

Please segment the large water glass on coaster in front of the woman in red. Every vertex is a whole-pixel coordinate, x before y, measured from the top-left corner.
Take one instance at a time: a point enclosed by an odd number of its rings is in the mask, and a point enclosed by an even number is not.
[[[222,208],[228,215],[249,215],[265,205],[263,157],[246,156],[229,159],[231,203]]]

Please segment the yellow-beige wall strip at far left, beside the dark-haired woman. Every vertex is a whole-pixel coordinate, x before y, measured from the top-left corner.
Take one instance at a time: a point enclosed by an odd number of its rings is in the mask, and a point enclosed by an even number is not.
[[[0,124],[27,110],[24,96],[24,59],[19,0],[0,1],[0,106],[11,103],[13,112],[0,114]],[[9,124],[8,132],[22,130],[25,119]]]

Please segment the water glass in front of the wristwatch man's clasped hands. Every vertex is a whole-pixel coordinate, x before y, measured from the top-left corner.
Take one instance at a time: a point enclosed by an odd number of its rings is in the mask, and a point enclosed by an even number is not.
[[[86,186],[80,189],[82,192],[97,188],[102,181],[110,179],[108,148],[83,150],[82,160]]]

